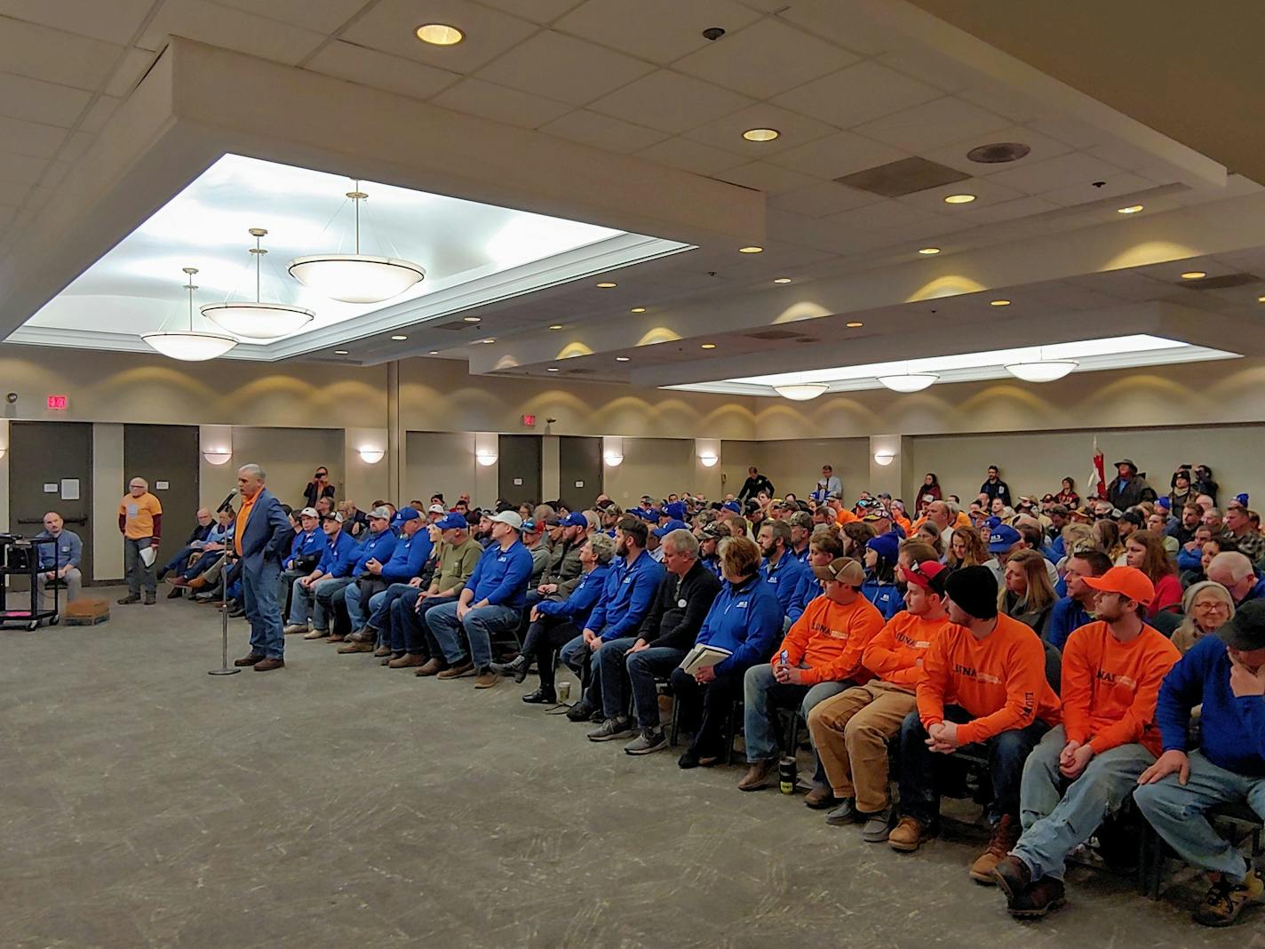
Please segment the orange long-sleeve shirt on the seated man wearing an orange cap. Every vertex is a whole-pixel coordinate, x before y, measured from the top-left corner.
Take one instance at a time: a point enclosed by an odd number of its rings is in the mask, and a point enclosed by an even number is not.
[[[1160,683],[1182,658],[1163,633],[1142,626],[1121,643],[1103,621],[1073,630],[1063,650],[1063,724],[1069,741],[1089,741],[1094,754],[1138,743],[1161,750],[1155,725]]]

